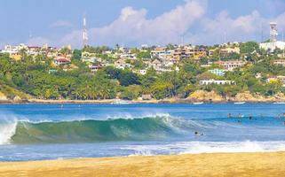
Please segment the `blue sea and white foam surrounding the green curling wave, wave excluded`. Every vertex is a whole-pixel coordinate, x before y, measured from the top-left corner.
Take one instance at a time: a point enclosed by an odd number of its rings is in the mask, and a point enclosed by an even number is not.
[[[0,125],[167,117],[178,120],[174,128],[181,135],[139,142],[3,143],[0,161],[285,150],[283,113],[285,104],[2,104]],[[0,134],[5,136],[1,129]]]

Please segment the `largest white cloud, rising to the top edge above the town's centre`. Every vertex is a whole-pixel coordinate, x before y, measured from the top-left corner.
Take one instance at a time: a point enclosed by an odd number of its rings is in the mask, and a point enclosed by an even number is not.
[[[114,45],[125,44],[165,44],[168,42],[180,42],[189,27],[192,27],[197,19],[201,19],[207,9],[204,0],[187,0],[170,12],[154,18],[146,18],[146,9],[135,10],[132,7],[123,8],[121,15],[106,27],[89,29],[91,44]],[[81,31],[74,31],[66,35],[61,42],[80,45]]]

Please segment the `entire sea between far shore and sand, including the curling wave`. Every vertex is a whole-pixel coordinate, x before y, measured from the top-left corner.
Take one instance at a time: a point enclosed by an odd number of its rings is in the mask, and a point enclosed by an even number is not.
[[[0,161],[285,150],[283,113],[284,104],[0,105]]]

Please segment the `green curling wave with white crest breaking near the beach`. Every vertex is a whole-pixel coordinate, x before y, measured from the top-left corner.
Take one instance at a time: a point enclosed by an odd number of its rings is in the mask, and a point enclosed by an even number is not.
[[[0,123],[0,144],[118,142],[158,140],[183,131],[179,119],[72,120]]]

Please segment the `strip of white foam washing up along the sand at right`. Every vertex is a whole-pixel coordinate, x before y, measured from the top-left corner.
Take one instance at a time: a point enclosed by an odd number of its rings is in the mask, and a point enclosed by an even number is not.
[[[201,154],[231,152],[285,151],[285,142],[174,142],[166,144],[127,145],[122,150],[131,150],[131,156],[160,154]]]

